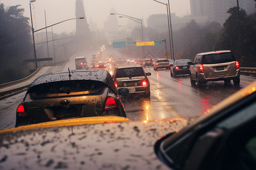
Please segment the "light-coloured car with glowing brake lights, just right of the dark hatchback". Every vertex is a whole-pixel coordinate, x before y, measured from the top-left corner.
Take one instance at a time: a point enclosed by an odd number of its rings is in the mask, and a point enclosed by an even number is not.
[[[127,88],[129,94],[143,94],[150,97],[150,81],[141,65],[118,66],[114,71],[114,84],[117,89]]]

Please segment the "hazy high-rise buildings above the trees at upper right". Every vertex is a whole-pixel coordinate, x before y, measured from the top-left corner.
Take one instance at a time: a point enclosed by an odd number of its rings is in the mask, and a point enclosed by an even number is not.
[[[236,0],[190,0],[192,16],[207,16],[209,22],[223,24],[228,19],[229,8],[237,6]],[[239,7],[247,14],[255,12],[253,0],[239,0]]]

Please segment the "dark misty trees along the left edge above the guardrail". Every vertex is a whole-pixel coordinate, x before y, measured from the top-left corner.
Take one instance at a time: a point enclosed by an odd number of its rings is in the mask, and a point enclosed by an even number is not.
[[[31,28],[20,5],[5,10],[0,4],[0,83],[24,78],[29,73],[23,59],[31,58]]]

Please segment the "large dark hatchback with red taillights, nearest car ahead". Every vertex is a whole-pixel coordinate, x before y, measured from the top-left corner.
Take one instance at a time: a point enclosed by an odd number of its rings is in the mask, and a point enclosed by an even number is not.
[[[64,71],[34,80],[16,110],[15,126],[109,115],[126,117],[108,71]]]

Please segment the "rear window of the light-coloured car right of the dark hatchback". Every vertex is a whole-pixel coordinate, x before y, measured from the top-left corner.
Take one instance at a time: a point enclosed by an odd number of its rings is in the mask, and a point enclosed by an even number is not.
[[[115,78],[134,77],[134,76],[145,76],[142,67],[132,67],[118,69]]]

